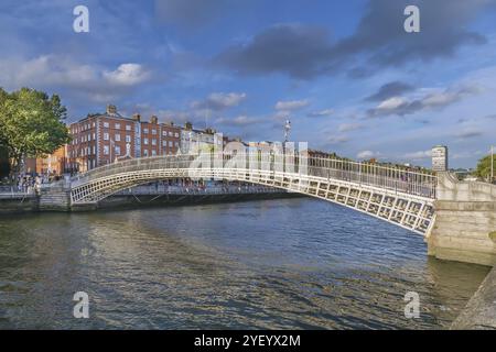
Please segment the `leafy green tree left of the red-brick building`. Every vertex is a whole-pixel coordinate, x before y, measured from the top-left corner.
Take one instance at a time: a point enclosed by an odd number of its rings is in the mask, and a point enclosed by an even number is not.
[[[65,118],[56,95],[30,88],[9,94],[0,88],[0,144],[7,148],[11,175],[19,174],[23,158],[51,154],[69,141]]]

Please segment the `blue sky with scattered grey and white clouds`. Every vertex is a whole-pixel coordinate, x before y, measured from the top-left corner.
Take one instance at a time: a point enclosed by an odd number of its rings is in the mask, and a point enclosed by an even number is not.
[[[89,10],[89,33],[73,9]],[[403,9],[420,9],[406,33]],[[496,145],[496,0],[0,3],[0,86],[353,158],[473,167]]]

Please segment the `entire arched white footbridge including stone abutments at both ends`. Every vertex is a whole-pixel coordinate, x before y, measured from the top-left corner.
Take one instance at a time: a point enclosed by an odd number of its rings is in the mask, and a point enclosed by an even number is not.
[[[438,258],[496,263],[496,186],[450,173],[337,158],[206,153],[129,158],[47,187],[41,210],[89,210],[109,196],[166,179],[241,182],[319,198],[424,237]],[[57,208],[57,209],[54,209]]]

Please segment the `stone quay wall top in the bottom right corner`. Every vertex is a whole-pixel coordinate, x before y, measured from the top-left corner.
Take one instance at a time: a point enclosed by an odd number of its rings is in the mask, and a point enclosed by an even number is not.
[[[494,267],[462,314],[453,321],[452,330],[496,330],[496,267]]]

